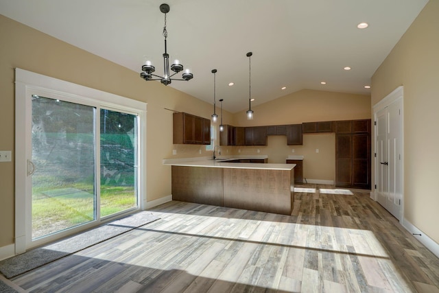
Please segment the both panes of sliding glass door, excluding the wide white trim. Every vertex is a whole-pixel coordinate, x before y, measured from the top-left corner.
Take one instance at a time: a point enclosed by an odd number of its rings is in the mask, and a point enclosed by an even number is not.
[[[137,129],[137,115],[32,95],[32,239],[138,208]]]

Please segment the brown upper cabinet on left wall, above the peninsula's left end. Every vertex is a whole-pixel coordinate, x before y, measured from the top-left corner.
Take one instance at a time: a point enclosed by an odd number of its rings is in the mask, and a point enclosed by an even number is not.
[[[209,145],[211,143],[211,121],[189,113],[174,113],[173,143]]]

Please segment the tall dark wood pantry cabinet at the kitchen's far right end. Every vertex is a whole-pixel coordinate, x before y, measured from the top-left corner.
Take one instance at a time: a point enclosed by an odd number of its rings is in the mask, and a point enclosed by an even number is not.
[[[335,186],[370,189],[370,122],[335,123]]]

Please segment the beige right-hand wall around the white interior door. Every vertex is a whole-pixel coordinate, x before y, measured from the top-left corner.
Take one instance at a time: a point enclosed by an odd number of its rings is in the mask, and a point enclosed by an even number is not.
[[[404,86],[404,218],[439,244],[438,82],[439,1],[430,0],[372,76],[372,106]]]

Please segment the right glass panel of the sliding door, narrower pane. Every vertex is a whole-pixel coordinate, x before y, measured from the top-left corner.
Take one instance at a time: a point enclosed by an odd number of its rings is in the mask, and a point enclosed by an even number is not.
[[[101,217],[137,208],[137,116],[100,110]]]

